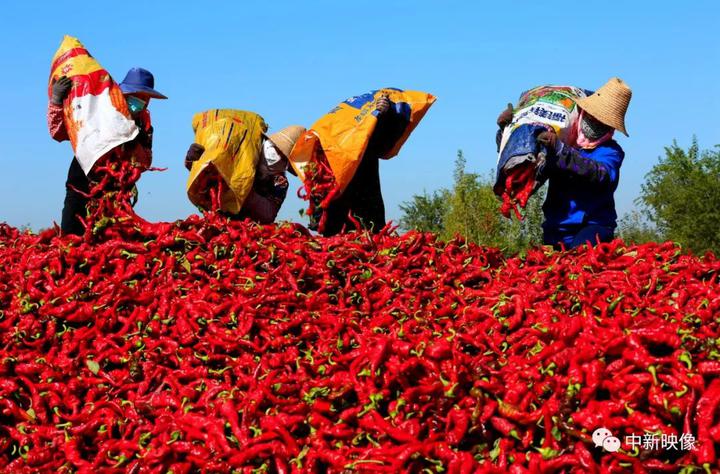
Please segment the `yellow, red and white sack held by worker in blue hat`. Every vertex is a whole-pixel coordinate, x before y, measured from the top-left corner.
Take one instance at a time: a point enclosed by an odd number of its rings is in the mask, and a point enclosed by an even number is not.
[[[100,157],[135,138],[138,128],[130,118],[120,86],[72,36],[63,38],[53,56],[48,97],[52,96],[53,82],[61,76],[73,80],[63,102],[65,128],[75,157],[88,174]]]

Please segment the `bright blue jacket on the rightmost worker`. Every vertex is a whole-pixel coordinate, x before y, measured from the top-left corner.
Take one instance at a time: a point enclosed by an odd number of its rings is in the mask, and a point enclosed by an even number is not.
[[[558,141],[549,157],[549,183],[543,204],[545,229],[597,224],[615,228],[613,194],[625,152],[614,140],[592,150],[571,148]]]

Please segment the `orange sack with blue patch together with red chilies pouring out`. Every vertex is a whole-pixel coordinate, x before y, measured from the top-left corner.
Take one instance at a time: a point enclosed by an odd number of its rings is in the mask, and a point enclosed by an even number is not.
[[[377,125],[377,101],[387,96],[404,117],[404,132],[382,158],[396,156],[430,106],[432,94],[385,88],[351,97],[316,121],[298,139],[289,161],[303,181],[301,198],[309,200],[310,220],[318,221],[330,201],[347,188]],[[303,190],[301,190],[303,191]]]

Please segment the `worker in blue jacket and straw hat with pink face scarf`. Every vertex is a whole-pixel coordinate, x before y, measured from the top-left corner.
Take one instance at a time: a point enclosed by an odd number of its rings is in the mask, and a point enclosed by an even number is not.
[[[626,136],[625,114],[632,91],[619,78],[610,79],[595,93],[576,101],[580,116],[573,143],[563,143],[553,129],[537,136],[548,152],[544,173],[548,191],[543,204],[543,242],[574,248],[587,242],[609,242],[617,227],[614,193],[625,152],[613,140]],[[512,121],[512,109],[503,111],[498,125]]]

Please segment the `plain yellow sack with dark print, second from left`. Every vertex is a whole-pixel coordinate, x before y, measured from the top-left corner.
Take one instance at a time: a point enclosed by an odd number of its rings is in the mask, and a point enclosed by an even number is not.
[[[212,109],[195,114],[192,127],[205,152],[190,170],[190,201],[210,209],[210,190],[220,182],[220,209],[237,214],[252,190],[265,121],[253,112]]]

